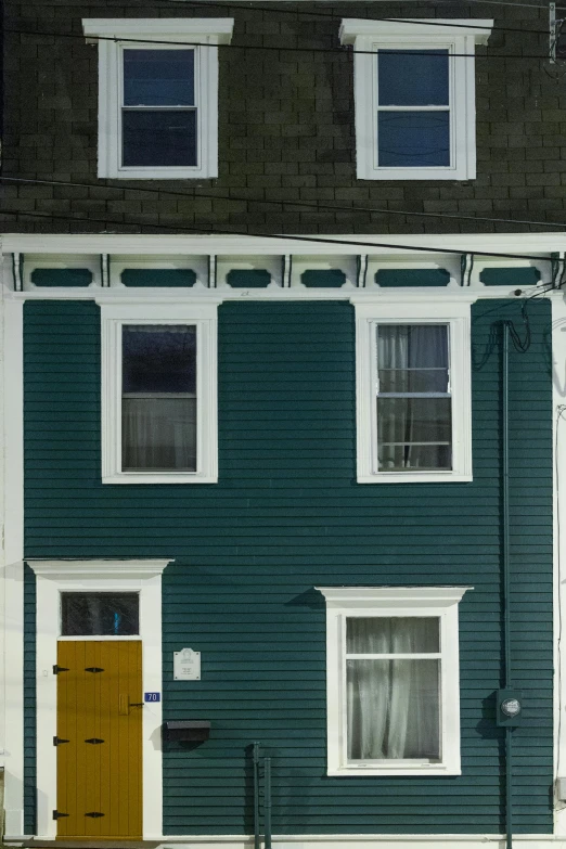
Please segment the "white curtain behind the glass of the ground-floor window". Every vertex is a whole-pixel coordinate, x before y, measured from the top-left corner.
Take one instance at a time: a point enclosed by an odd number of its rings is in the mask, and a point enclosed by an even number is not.
[[[347,654],[438,651],[438,620],[349,619]],[[440,757],[439,659],[348,659],[348,757]]]

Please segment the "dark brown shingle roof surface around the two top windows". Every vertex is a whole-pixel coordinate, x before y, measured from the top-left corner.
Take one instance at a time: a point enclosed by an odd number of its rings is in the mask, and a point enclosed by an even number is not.
[[[93,185],[4,184],[7,208],[48,214],[48,218],[3,216],[1,229],[98,232],[120,231],[120,224],[130,223],[126,232],[184,227],[252,233],[436,233],[528,229],[474,221],[475,215],[565,219],[566,95],[545,74],[542,61],[530,59],[548,49],[544,9],[305,2],[281,3],[278,9],[8,0],[3,173]],[[318,16],[309,16],[308,11]],[[477,48],[477,178],[469,182],[357,180],[352,56],[339,47],[340,20],[493,14],[497,26],[525,33],[497,30],[489,47]],[[97,47],[85,43],[80,21],[176,15],[235,18],[233,47],[220,49],[219,177],[130,182],[140,189],[163,189],[157,194],[128,191],[120,180],[114,181],[118,191],[107,189],[106,181],[97,179]],[[25,36],[14,29],[77,38]],[[257,49],[262,47],[266,50]],[[280,47],[297,50],[274,49]],[[167,190],[185,196],[168,195]],[[195,198],[195,192],[201,196]],[[287,202],[287,206],[268,201]],[[376,211],[309,209],[288,205],[293,202]],[[465,215],[471,220],[394,214],[399,210]],[[50,219],[49,214],[63,218]],[[68,216],[90,220],[69,222]]]

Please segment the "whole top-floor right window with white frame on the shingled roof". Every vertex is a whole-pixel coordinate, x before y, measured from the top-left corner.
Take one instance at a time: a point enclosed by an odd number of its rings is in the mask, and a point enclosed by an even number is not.
[[[474,49],[487,41],[491,26],[492,21],[343,21],[342,42],[353,44],[356,53],[360,179],[476,176]]]

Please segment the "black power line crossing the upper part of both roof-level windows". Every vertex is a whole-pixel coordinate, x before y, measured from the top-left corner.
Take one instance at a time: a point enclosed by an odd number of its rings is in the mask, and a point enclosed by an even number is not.
[[[471,18],[472,20],[472,18]],[[437,24],[437,26],[440,26]],[[528,33],[529,30],[522,29],[520,33]],[[548,33],[543,33],[543,30],[535,30],[537,34],[548,35]],[[27,29],[12,29],[10,27],[4,28],[4,33],[10,33],[12,35],[20,35],[20,36],[34,36],[34,37],[51,37],[51,38],[73,38],[73,39],[80,39],[81,41],[87,38],[83,35],[78,35],[75,33],[53,33],[49,30],[27,30]],[[173,47],[204,47],[204,48],[218,48],[218,49],[228,49],[228,50],[267,50],[267,51],[276,51],[276,52],[286,52],[286,53],[337,53],[342,55],[370,55],[370,56],[376,56],[378,54],[378,51],[376,50],[352,50],[350,47],[337,47],[337,48],[291,48],[291,47],[272,47],[272,46],[262,46],[262,44],[210,44],[205,43],[203,41],[170,41],[167,39],[154,39],[154,38],[123,38],[121,36],[88,36],[89,41],[113,41],[115,43],[133,43],[133,44],[172,44]],[[399,53],[401,55],[404,55],[407,53],[411,53],[412,56],[419,55],[419,56],[429,56],[429,55],[438,55],[440,59],[446,59],[446,54],[443,53],[434,53],[432,50],[412,50],[411,48],[406,48],[402,50],[396,50],[394,48],[387,48],[388,53]],[[475,53],[448,53],[449,59],[477,59]],[[536,59],[536,60],[545,60],[548,59],[548,55],[540,54],[540,55],[532,55],[532,54],[523,54],[523,53],[486,53],[481,56],[481,59]]]

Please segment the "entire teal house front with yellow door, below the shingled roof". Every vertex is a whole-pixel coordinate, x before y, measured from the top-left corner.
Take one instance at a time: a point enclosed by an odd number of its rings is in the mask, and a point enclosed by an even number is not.
[[[551,262],[34,239],[4,237],[21,837],[550,846]]]

